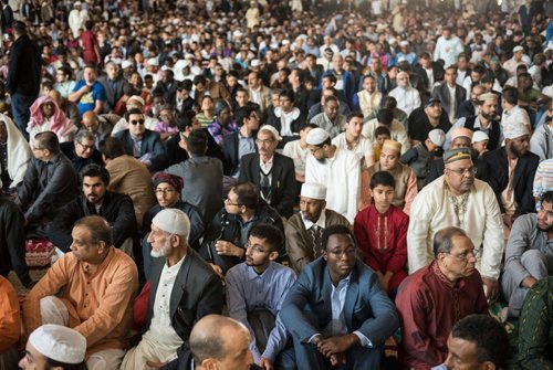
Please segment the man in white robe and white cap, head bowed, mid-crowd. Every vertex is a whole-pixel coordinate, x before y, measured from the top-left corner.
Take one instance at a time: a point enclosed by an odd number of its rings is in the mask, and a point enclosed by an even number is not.
[[[305,163],[305,182],[326,184],[326,207],[353,223],[357,214],[361,161],[351,150],[332,145],[328,133],[313,128],[306,138],[311,156]]]

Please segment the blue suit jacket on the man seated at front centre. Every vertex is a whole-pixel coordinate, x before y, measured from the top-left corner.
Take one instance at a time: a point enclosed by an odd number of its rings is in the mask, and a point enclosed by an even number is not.
[[[306,342],[332,320],[332,282],[326,261],[306,265],[290,289],[280,316],[294,339]],[[380,288],[377,275],[357,260],[347,287],[344,317],[347,331],[358,330],[379,346],[399,327],[396,308]]]

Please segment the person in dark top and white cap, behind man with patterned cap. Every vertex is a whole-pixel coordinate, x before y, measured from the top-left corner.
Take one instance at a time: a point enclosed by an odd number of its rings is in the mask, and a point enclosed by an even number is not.
[[[428,133],[425,141],[417,144],[401,156],[401,163],[409,166],[417,175],[417,189],[420,190],[426,183],[428,166],[434,160],[437,152],[446,142],[446,133],[439,128]]]

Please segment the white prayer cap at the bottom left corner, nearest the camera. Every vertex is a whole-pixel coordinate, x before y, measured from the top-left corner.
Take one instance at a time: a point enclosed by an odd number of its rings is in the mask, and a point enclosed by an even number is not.
[[[86,338],[75,329],[45,324],[29,337],[29,342],[40,353],[63,363],[81,363],[86,352]]]

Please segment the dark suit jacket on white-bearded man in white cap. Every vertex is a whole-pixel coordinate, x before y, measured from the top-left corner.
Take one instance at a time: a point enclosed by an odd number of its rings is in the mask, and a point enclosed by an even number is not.
[[[166,258],[152,260],[152,288],[149,290],[146,328],[152,324],[159,278]],[[169,303],[171,326],[186,342],[194,325],[206,315],[222,311],[222,283],[211,266],[196,251],[188,249],[188,254],[177,274]]]

